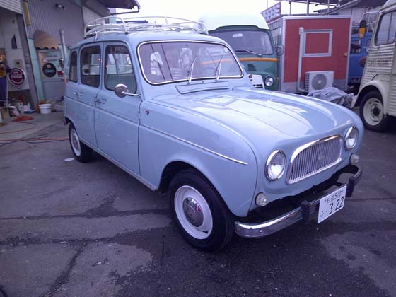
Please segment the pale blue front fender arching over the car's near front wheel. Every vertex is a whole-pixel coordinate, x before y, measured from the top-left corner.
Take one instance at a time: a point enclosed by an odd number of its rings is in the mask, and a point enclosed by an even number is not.
[[[250,146],[202,117],[146,104],[150,112],[142,115],[139,128],[141,177],[158,188],[169,163],[190,164],[214,185],[235,216],[247,216],[257,183],[257,161]]]

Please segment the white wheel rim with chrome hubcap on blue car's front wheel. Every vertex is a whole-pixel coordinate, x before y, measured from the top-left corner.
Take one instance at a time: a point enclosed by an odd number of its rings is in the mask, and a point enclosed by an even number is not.
[[[207,238],[213,228],[208,203],[201,193],[190,186],[182,186],[175,193],[175,212],[182,227],[192,237]]]

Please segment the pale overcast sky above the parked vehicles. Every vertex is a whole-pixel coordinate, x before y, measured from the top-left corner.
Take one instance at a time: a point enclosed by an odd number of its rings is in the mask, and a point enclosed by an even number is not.
[[[260,13],[279,1],[274,0],[138,0],[141,5],[141,16],[175,16],[179,18],[189,18],[197,20],[199,16],[206,12],[226,12],[238,11],[240,13]],[[281,2],[282,13],[289,13],[289,4]],[[327,6],[310,6],[310,13]],[[124,11],[118,9],[117,12]],[[291,4],[291,13],[306,13],[305,4]],[[126,15],[125,17],[127,17]],[[132,16],[132,15],[129,15]],[[136,16],[136,14],[134,14]]]

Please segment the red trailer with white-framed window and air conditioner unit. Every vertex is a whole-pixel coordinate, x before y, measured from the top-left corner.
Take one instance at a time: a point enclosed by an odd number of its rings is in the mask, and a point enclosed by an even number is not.
[[[280,56],[279,90],[347,89],[351,16],[282,16],[269,21]]]

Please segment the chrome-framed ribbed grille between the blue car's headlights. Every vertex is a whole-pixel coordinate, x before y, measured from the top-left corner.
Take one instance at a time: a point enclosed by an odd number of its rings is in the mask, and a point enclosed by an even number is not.
[[[341,161],[343,139],[330,136],[297,148],[291,158],[287,182],[293,184]]]

